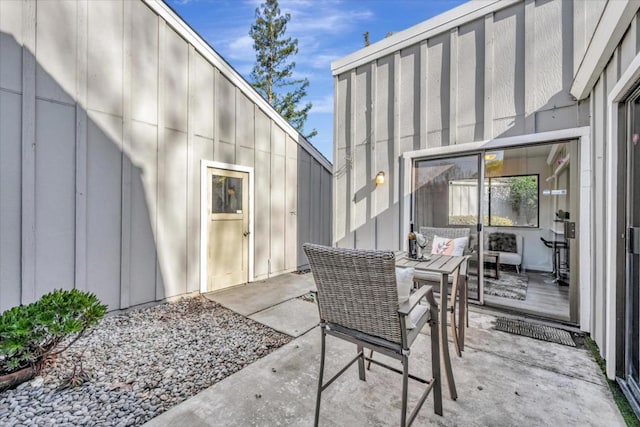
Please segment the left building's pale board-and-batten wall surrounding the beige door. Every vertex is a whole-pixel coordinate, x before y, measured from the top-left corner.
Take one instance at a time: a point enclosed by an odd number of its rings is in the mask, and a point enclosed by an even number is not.
[[[0,310],[199,291],[201,160],[254,168],[255,279],[331,240],[329,162],[153,3],[0,2]]]

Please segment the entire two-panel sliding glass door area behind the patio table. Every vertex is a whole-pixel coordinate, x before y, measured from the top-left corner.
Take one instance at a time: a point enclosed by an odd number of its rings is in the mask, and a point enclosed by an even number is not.
[[[470,300],[577,323],[578,157],[558,141],[415,159],[419,252],[462,248]]]

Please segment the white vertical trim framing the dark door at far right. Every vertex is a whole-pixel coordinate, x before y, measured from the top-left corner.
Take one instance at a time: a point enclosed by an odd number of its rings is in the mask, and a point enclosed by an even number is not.
[[[606,248],[605,248],[605,279],[606,313],[605,313],[605,360],[607,377],[614,379],[616,376],[616,251],[615,239],[617,237],[616,217],[618,215],[618,107],[629,91],[640,80],[640,54],[633,58],[627,69],[622,73],[618,83],[609,92],[607,99],[607,194],[604,203],[607,206],[606,218]]]

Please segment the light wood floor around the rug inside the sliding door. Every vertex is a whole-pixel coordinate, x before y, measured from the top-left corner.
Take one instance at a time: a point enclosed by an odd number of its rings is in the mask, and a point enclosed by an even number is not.
[[[555,283],[545,283],[549,280],[546,273],[527,271],[529,276],[527,297],[524,300],[485,295],[486,306],[505,308],[526,314],[534,314],[554,320],[569,321],[569,286],[559,286]],[[477,277],[469,276],[469,281]],[[470,293],[469,301],[477,300],[477,295]]]

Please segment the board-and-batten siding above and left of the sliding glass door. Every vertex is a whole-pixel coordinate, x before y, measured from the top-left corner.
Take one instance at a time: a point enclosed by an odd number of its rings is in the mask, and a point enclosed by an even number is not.
[[[469,2],[335,61],[334,243],[401,248],[404,152],[587,126],[569,90],[602,4]]]

